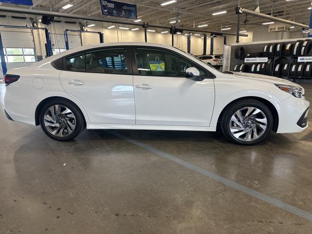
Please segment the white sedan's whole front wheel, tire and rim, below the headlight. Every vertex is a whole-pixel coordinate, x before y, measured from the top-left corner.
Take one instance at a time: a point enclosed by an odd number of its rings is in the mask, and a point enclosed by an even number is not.
[[[270,109],[260,101],[240,100],[225,110],[220,127],[230,141],[253,145],[269,136],[273,128],[273,116]]]

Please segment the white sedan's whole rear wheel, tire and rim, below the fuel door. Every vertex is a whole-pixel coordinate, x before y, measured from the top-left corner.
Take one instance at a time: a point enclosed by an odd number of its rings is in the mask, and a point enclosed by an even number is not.
[[[78,107],[63,99],[45,103],[40,110],[39,119],[45,134],[59,141],[74,139],[84,128],[84,118]]]

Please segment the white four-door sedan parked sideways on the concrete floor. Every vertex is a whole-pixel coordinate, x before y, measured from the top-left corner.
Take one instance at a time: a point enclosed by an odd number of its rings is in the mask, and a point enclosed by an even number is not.
[[[87,129],[216,131],[239,144],[307,128],[304,89],[220,72],[168,45],[89,45],[5,75],[6,116],[56,140]]]

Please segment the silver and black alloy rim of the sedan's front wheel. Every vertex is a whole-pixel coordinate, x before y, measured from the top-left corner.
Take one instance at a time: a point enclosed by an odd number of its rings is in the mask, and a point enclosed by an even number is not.
[[[267,117],[256,107],[244,107],[236,111],[230,120],[232,135],[242,141],[253,141],[267,129]]]

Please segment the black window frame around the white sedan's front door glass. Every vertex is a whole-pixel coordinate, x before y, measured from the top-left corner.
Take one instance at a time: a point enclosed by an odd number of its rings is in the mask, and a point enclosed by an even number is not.
[[[190,62],[191,64],[194,64],[195,67],[197,69],[201,69],[204,70],[206,72],[206,79],[214,79],[215,78],[215,74],[213,74],[211,71],[209,71],[208,69],[202,67],[201,65],[199,65],[198,63],[196,63],[195,61],[184,57],[183,55],[177,53],[176,51],[173,50],[169,50],[167,48],[161,48],[161,47],[157,47],[157,46],[145,46],[145,45],[135,45],[135,46],[130,46],[131,47],[131,61],[132,61],[132,70],[133,70],[133,75],[135,76],[143,76],[143,77],[156,77],[156,76],[151,76],[151,75],[140,75],[138,72],[138,68],[137,68],[137,58],[136,58],[136,49],[154,49],[154,50],[159,50],[159,51],[163,51],[163,52],[169,52],[170,54],[175,55],[176,57],[186,60],[187,62]],[[209,74],[211,74],[211,77],[209,76]],[[159,76],[159,77],[168,77],[168,78],[185,78],[185,76]]]

